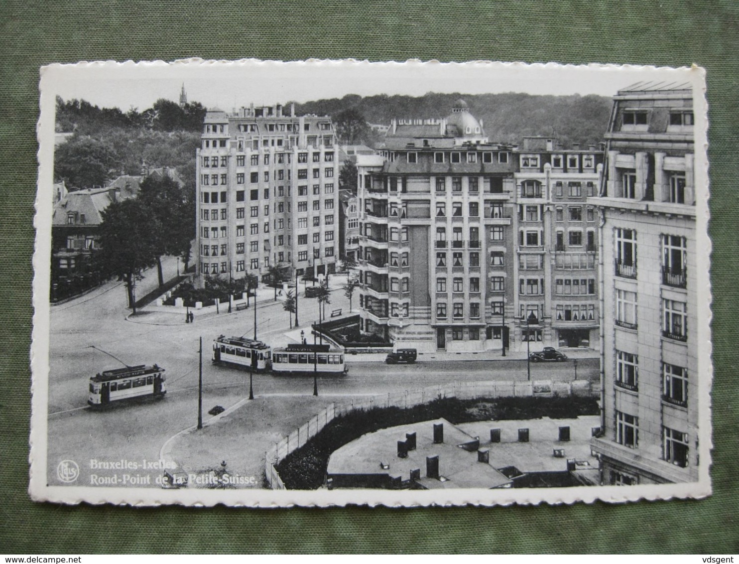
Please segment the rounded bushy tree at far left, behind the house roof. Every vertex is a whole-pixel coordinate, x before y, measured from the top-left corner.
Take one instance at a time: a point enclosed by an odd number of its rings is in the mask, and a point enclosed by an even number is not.
[[[55,149],[54,174],[57,182],[64,180],[70,188],[103,186],[118,161],[110,143],[75,135]]]

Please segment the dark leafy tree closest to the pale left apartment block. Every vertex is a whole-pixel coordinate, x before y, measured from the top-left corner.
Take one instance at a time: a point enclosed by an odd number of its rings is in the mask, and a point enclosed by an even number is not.
[[[154,212],[160,230],[153,232],[157,244],[157,274],[164,285],[162,259],[164,255],[182,255],[194,237],[191,206],[187,205],[180,185],[168,175],[146,177],[140,185],[138,200]]]

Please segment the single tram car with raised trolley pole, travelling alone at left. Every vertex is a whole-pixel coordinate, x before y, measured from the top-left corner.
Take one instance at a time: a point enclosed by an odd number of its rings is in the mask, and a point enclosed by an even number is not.
[[[87,403],[92,407],[105,407],[140,395],[163,398],[167,393],[164,372],[157,364],[104,370],[90,378]]]

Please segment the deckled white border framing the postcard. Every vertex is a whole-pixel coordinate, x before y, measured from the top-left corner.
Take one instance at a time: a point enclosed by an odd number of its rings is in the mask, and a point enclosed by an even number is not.
[[[182,67],[217,66],[231,67],[239,72],[246,67],[310,67],[331,66],[343,69],[349,66],[361,66],[376,70],[376,67],[397,69],[402,67],[415,72],[442,72],[449,67],[474,66],[483,67],[491,73],[503,69],[514,69],[520,72],[534,72],[535,69],[588,69],[595,71],[619,72],[620,69],[630,69],[645,72],[645,79],[649,79],[648,72],[654,72],[658,67],[639,67],[631,65],[560,65],[500,63],[492,61],[471,61],[468,63],[439,63],[438,61],[421,62],[418,60],[402,62],[370,63],[369,61],[259,61],[244,59],[241,61],[203,61],[202,59],[178,60],[173,63],[165,61],[142,61],[134,63],[126,61],[95,61],[72,64],[52,64],[41,69],[41,117],[38,120],[38,193],[35,201],[36,214],[34,226],[36,228],[35,252],[33,255],[33,344],[31,347],[31,368],[33,371],[33,412],[31,415],[30,436],[30,485],[29,492],[33,500],[53,501],[61,503],[115,503],[132,506],[157,506],[161,504],[179,503],[186,506],[214,506],[223,503],[227,506],[248,507],[289,507],[289,506],[491,506],[509,505],[511,503],[592,503],[602,500],[611,503],[620,503],[640,499],[667,500],[673,497],[700,498],[710,495],[711,482],[709,475],[710,455],[712,449],[711,428],[711,384],[712,345],[710,341],[711,320],[711,292],[709,280],[711,241],[708,237],[709,220],[709,178],[707,161],[707,130],[708,106],[705,98],[705,70],[700,67],[681,67],[680,69],[660,70],[680,73],[676,80],[689,81],[693,88],[693,103],[695,112],[695,186],[696,186],[696,248],[698,288],[705,288],[705,292],[698,293],[698,372],[701,378],[699,388],[699,467],[698,482],[664,484],[660,486],[590,486],[576,488],[531,488],[531,489],[449,489],[441,491],[405,490],[393,491],[384,489],[335,489],[316,491],[275,491],[270,489],[175,489],[158,488],[104,488],[92,486],[48,486],[47,472],[47,405],[48,405],[48,377],[49,377],[49,332],[50,332],[50,256],[51,256],[51,217],[52,217],[52,189],[53,189],[53,151],[55,129],[55,95],[56,81],[64,80],[65,73],[70,67],[105,67],[118,69],[121,74],[130,72],[132,80],[136,80],[137,69],[151,67],[166,67],[169,65]],[[68,74],[68,73],[67,73]],[[626,87],[628,84],[623,84]],[[616,95],[616,92],[613,92]],[[248,101],[245,101],[248,102]]]

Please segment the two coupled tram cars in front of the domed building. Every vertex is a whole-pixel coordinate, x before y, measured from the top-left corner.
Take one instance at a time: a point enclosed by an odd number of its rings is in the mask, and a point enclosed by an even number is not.
[[[329,344],[288,344],[272,349],[261,341],[222,335],[213,342],[212,360],[214,364],[236,364],[274,374],[343,374],[349,370],[344,350]]]

